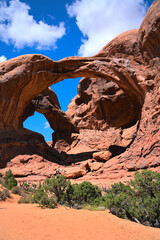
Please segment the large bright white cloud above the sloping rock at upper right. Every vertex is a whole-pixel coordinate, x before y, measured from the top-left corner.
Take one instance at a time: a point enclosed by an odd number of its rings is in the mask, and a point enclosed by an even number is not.
[[[146,13],[144,0],[76,0],[66,7],[83,33],[79,49],[83,56],[96,54],[120,33],[139,28]]]

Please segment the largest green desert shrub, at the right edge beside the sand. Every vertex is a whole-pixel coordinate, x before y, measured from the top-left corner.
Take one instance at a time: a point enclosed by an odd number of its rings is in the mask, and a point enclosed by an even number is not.
[[[143,170],[134,180],[116,183],[104,196],[104,205],[121,218],[160,227],[160,174]]]

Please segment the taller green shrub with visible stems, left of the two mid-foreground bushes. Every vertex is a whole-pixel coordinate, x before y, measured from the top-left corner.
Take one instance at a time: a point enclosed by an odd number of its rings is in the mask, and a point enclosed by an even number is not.
[[[56,197],[57,203],[71,201],[73,190],[70,181],[65,176],[57,175],[55,178],[47,178],[43,187],[50,196]]]

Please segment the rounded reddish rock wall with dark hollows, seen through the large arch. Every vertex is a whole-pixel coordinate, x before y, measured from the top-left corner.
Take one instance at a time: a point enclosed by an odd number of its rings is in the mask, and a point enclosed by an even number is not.
[[[125,127],[139,117],[124,91],[117,84],[100,78],[81,79],[67,115],[78,128],[97,130]]]

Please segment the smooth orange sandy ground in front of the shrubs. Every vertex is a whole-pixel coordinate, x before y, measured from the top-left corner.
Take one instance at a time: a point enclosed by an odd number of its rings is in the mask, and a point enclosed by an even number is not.
[[[160,240],[160,229],[108,211],[40,209],[16,201],[0,202],[0,240]]]

